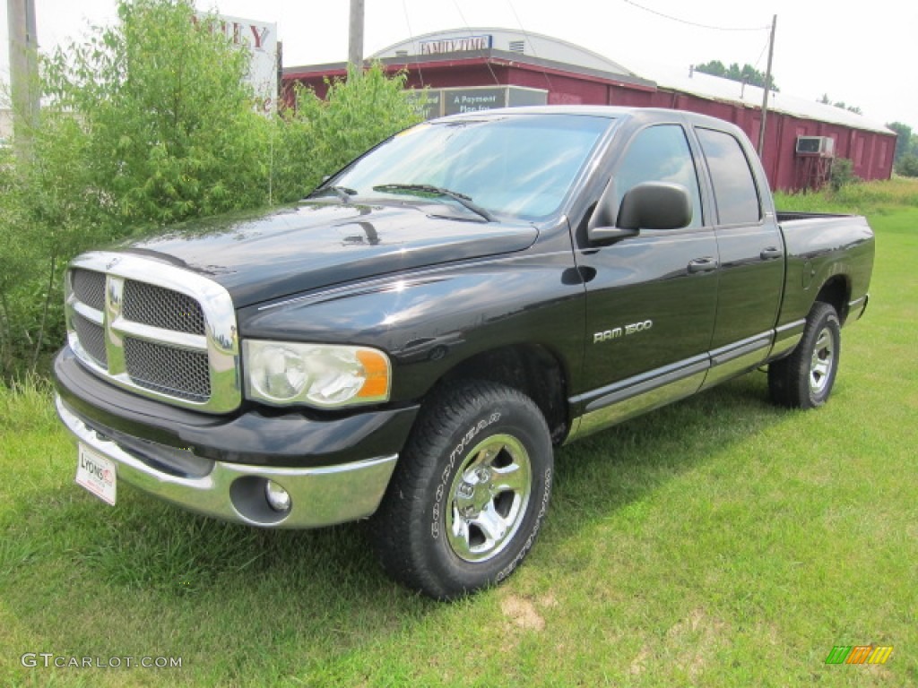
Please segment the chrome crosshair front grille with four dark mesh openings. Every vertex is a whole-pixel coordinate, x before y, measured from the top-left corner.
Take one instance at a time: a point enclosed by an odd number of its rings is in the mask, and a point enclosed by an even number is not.
[[[173,265],[87,253],[66,281],[68,338],[96,374],[137,394],[212,413],[241,402],[229,294]]]

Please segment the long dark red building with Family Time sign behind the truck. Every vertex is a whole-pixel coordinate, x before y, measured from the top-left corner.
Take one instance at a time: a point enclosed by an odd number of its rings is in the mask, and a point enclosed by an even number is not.
[[[672,107],[721,117],[756,142],[762,89],[690,68],[632,69],[564,40],[506,28],[438,31],[370,56],[388,72],[404,70],[410,88],[428,88],[428,115],[506,105],[636,105]],[[346,76],[346,66],[285,68],[286,88]],[[800,190],[823,183],[832,162],[847,158],[866,180],[889,179],[896,135],[882,124],[833,105],[769,94],[762,162],[772,187]]]

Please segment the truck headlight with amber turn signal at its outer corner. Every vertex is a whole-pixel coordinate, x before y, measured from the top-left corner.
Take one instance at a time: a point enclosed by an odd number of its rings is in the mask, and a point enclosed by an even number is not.
[[[368,347],[245,339],[246,394],[271,405],[341,408],[387,401],[391,366]]]

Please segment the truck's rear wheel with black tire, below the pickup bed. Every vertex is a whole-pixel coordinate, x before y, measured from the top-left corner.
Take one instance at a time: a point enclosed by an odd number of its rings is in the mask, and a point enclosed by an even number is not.
[[[797,348],[768,365],[768,389],[776,404],[792,408],[825,404],[838,372],[841,327],[831,305],[817,301],[812,306]]]

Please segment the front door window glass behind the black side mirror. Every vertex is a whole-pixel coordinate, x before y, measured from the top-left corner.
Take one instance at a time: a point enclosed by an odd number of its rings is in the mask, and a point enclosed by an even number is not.
[[[646,128],[634,137],[615,172],[616,207],[629,189],[644,182],[672,182],[689,189],[692,202],[689,227],[701,226],[698,175],[689,141],[679,125]]]

